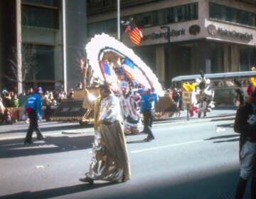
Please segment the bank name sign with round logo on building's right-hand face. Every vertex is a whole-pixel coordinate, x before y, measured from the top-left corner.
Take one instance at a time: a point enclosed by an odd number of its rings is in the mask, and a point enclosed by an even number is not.
[[[223,28],[216,28],[216,26],[214,26],[213,24],[210,24],[208,27],[208,33],[211,36],[226,36],[226,37],[230,37],[236,40],[240,40],[240,41],[245,41],[245,42],[250,42],[253,40],[253,36],[252,34],[248,34],[248,33],[239,33],[238,31],[228,31],[226,29]]]

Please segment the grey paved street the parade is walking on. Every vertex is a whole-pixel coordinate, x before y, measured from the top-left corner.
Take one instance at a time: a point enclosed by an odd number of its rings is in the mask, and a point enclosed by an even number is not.
[[[182,112],[154,122],[154,141],[144,142],[145,134],[126,136],[131,181],[93,186],[78,181],[90,164],[91,126],[41,122],[46,139],[34,137],[32,145],[23,145],[28,124],[0,126],[0,198],[234,198],[234,114],[216,109],[206,119],[187,119]]]

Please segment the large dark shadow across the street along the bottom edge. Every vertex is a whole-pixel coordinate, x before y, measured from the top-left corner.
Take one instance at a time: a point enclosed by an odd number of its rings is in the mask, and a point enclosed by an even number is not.
[[[4,195],[0,198],[233,199],[235,198],[235,187],[239,177],[238,173],[238,168],[230,168],[228,171],[212,173],[207,176],[180,179],[178,182],[175,182],[167,176],[164,179],[155,178],[154,181],[142,182],[143,179],[137,179],[135,176],[131,181],[121,184],[97,183],[97,181],[95,181],[95,185],[79,184],[35,192],[24,191]],[[135,183],[131,183],[132,181],[135,181]],[[99,190],[98,194],[91,195],[93,189],[107,186],[110,186],[109,191]],[[134,186],[136,186],[136,188],[134,188]],[[250,187],[250,185],[248,184],[247,187]],[[250,190],[247,189],[245,198],[250,198],[249,196]]]

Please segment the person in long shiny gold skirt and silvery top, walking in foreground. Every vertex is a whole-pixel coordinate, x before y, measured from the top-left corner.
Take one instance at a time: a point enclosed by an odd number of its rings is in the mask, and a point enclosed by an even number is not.
[[[119,100],[112,95],[110,85],[100,85],[100,97],[95,99],[95,141],[89,171],[82,182],[95,180],[125,182],[130,178],[129,157],[124,131],[120,124]]]

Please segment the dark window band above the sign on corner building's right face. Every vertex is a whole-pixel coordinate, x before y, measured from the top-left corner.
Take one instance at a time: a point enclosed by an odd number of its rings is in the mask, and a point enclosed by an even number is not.
[[[256,14],[212,2],[210,2],[210,18],[256,27]]]

